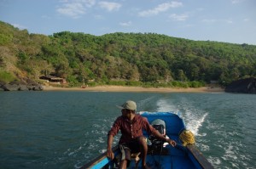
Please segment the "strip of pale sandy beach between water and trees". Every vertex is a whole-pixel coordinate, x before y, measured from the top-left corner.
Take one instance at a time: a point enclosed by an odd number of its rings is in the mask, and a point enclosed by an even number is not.
[[[221,87],[123,87],[123,86],[96,86],[96,87],[52,87],[44,86],[44,91],[94,91],[94,92],[150,92],[150,93],[224,93]]]

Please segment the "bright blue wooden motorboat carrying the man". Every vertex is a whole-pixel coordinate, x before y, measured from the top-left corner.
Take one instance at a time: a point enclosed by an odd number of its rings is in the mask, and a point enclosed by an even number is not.
[[[184,143],[181,138],[181,133],[189,132],[186,129],[183,119],[173,112],[139,112],[140,115],[148,118],[148,122],[157,130],[164,127],[166,137],[172,138],[177,142],[175,147],[167,143],[160,143],[154,137],[148,136],[147,132],[143,132],[147,137],[148,142],[148,155],[147,165],[151,169],[157,168],[172,168],[172,169],[198,169],[198,168],[213,168],[212,164],[202,155],[201,151],[196,148],[195,142]],[[155,121],[160,121],[159,124],[153,125]],[[164,123],[162,123],[164,122]],[[158,127],[158,128],[157,128]],[[160,131],[160,130],[159,130]],[[161,132],[161,131],[160,131]],[[162,132],[161,132],[162,133]],[[195,141],[195,140],[194,140]],[[107,146],[107,145],[106,145]],[[118,168],[119,166],[119,147],[113,147],[115,158],[111,161],[108,159],[106,152],[96,157],[96,159],[88,162],[81,168],[90,169],[110,169]],[[127,167],[141,168],[140,161],[131,160],[130,165]]]

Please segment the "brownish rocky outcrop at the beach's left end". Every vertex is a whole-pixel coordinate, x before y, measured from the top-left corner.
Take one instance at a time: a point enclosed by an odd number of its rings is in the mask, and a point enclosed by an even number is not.
[[[0,91],[41,91],[43,86],[38,82],[29,79],[22,79],[20,82],[14,81],[10,83],[0,82]]]

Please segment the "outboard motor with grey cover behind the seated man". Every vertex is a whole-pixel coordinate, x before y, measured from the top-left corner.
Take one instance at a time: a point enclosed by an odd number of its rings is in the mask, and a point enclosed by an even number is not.
[[[161,119],[156,119],[151,123],[152,127],[154,127],[160,134],[166,136],[166,122]],[[163,141],[155,138],[153,135],[150,135],[148,139],[151,141],[151,144],[154,149],[161,149],[163,147]]]

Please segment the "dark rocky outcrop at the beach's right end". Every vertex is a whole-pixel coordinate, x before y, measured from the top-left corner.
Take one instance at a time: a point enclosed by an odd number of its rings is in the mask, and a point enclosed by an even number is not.
[[[231,82],[225,88],[227,93],[256,93],[256,78],[241,79]]]

